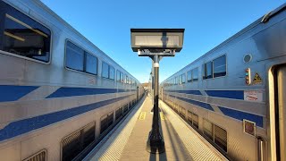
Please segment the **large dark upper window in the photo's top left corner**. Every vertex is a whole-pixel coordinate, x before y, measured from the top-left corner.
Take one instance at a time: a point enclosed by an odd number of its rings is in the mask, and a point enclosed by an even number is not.
[[[9,4],[0,2],[0,8],[0,50],[48,63],[51,31]]]

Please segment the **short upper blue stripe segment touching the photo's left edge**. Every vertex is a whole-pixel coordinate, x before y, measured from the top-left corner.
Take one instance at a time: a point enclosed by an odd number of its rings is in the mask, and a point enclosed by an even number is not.
[[[35,89],[38,89],[38,87],[0,85],[0,102],[18,100]]]

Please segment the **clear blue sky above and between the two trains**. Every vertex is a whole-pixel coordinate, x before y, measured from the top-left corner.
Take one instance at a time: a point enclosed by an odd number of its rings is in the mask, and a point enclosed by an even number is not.
[[[272,11],[283,0],[42,0],[140,82],[151,59],[130,48],[130,28],[183,28],[184,45],[160,62],[160,81]]]

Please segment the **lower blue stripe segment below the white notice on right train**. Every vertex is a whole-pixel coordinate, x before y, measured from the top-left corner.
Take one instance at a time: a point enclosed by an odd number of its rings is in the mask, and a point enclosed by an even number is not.
[[[232,118],[238,119],[240,121],[243,121],[243,119],[247,119],[249,121],[257,123],[257,126],[260,126],[263,128],[263,116],[257,115],[257,114],[249,114],[237,110],[233,110],[230,108],[226,108],[223,106],[219,106],[223,114],[228,115]]]

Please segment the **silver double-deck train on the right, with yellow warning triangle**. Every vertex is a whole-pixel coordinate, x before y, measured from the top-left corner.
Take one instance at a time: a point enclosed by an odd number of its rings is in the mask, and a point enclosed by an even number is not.
[[[285,7],[160,85],[161,99],[232,160],[286,160]]]

